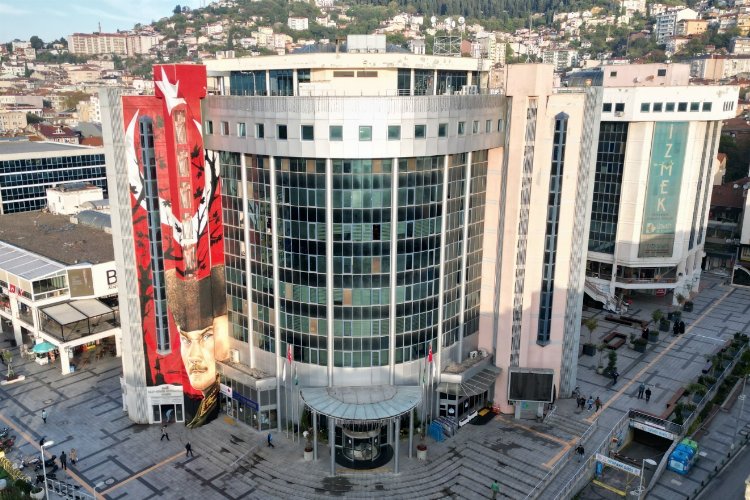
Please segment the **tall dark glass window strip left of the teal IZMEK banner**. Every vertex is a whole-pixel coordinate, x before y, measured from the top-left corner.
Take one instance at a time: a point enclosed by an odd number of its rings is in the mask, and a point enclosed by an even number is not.
[[[614,253],[628,122],[602,122],[596,152],[589,251]]]

